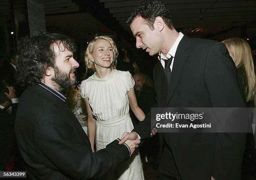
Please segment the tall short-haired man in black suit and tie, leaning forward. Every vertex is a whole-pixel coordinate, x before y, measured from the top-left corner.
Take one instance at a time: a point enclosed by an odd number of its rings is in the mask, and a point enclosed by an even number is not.
[[[246,107],[225,45],[177,32],[170,13],[162,2],[146,0],[127,20],[137,48],[149,55],[161,52],[153,75],[156,107]],[[148,113],[134,128],[141,139],[147,137],[150,121]],[[164,133],[164,138],[160,179],[239,179],[244,133]]]

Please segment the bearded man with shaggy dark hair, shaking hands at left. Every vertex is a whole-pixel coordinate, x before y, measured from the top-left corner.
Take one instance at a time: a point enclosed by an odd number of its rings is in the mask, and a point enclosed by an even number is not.
[[[127,160],[140,143],[137,139],[118,145],[117,139],[92,153],[87,135],[61,93],[76,81],[79,64],[74,51],[74,42],[58,34],[26,37],[19,44],[17,77],[28,87],[20,98],[15,134],[33,180],[99,178]]]

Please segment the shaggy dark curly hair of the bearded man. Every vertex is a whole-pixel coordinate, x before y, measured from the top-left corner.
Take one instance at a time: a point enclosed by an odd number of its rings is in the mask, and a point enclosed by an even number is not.
[[[53,43],[62,43],[69,51],[74,52],[76,45],[65,35],[41,33],[24,37],[18,44],[16,80],[20,85],[35,85],[41,82],[48,67],[55,68]]]

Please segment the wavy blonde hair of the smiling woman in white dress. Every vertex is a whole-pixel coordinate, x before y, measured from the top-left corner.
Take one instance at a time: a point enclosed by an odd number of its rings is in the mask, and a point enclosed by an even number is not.
[[[114,56],[113,56],[113,62],[112,62],[112,64],[111,64],[111,67],[110,67],[110,68],[111,68],[111,69],[116,69],[117,57],[118,57],[118,50],[117,50],[117,48],[116,48],[116,45],[115,45],[115,42],[113,41],[113,39],[112,39],[111,37],[109,37],[109,36],[106,36],[106,35],[96,36],[96,37],[94,38],[94,40],[92,40],[92,41],[88,44],[87,49],[86,49],[86,51],[85,51],[85,55],[84,55],[85,65],[86,65],[86,67],[87,67],[88,69],[92,69],[92,70],[95,71],[95,66],[94,66],[94,63],[91,61],[91,58],[92,58],[92,53],[93,53],[93,48],[94,48],[95,42],[96,42],[97,40],[101,40],[101,39],[107,40],[107,41],[110,43],[110,45],[111,45],[111,47],[112,47],[112,49],[113,49],[113,54],[114,54]]]

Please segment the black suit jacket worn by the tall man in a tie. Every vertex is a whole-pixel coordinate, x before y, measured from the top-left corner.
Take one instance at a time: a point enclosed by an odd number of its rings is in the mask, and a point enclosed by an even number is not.
[[[236,66],[223,43],[189,38],[179,43],[167,99],[163,67],[154,67],[156,107],[246,107]],[[133,131],[149,135],[150,113]],[[182,180],[236,180],[243,157],[244,133],[165,133]],[[164,158],[164,157],[163,157]],[[165,157],[166,158],[166,157]]]

